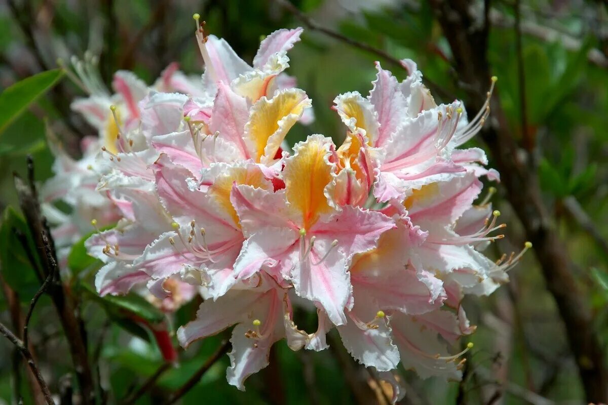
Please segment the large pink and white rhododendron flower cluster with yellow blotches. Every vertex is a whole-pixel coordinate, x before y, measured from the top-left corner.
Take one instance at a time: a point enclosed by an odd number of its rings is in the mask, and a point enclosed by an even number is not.
[[[475,329],[463,296],[508,281],[530,247],[498,262],[482,253],[504,225],[480,178],[499,175],[461,146],[488,117],[496,79],[468,120],[460,101],[435,103],[413,61],[403,81],[376,63],[367,97],[334,100],[340,145],[314,134],[289,148],[288,131],[314,119],[284,72],[303,30],[263,39],[250,66],[195,19],[200,80],[170,66],[147,87],[118,72],[108,95],[75,63],[91,95],[73,107],[98,134],[80,161],[57,151],[45,195],[74,213],[57,213],[55,236],[69,246],[90,223],[116,223],[86,241],[103,261],[98,293],[134,290],[169,312],[201,294],[177,338],[188,347],[233,327],[227,379],[239,389],[275,342],[323,350],[332,328],[389,381],[400,362],[460,378],[453,346]],[[316,308],[317,330],[295,324],[294,307]]]

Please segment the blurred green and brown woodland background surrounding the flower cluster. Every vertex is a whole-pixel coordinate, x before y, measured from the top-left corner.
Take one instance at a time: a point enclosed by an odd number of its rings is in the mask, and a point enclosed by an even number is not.
[[[438,102],[461,98],[476,112],[499,78],[492,123],[472,141],[489,152],[503,182],[492,197],[508,223],[492,245],[496,258],[532,240],[511,282],[489,297],[467,298],[474,349],[461,383],[421,380],[404,372],[404,404],[583,404],[606,395],[608,372],[608,2],[582,0],[1,0],[0,87],[57,67],[86,51],[99,55],[106,84],[117,69],[133,70],[147,83],[173,61],[186,73],[202,73],[192,13],[210,33],[225,38],[246,61],[260,39],[282,27],[305,27],[289,53],[288,73],[313,99],[316,121],[296,126],[290,143],[322,133],[339,142],[345,129],[330,107],[336,95],[368,94],[374,61],[398,78],[407,72],[392,58],[412,58]],[[451,13],[461,18],[450,19]],[[459,14],[460,13],[460,14]],[[466,19],[464,16],[472,16]],[[481,34],[480,34],[481,33]],[[479,34],[479,35],[478,35]],[[476,41],[475,39],[482,38]],[[468,44],[463,51],[459,41]],[[466,55],[466,52],[469,55]],[[487,61],[487,64],[485,64]],[[485,77],[487,76],[487,77]],[[44,120],[78,156],[83,136],[94,134],[69,109],[82,95],[64,78],[0,134],[0,208],[16,205],[12,172],[25,173],[26,155],[36,180],[52,174]],[[514,167],[516,165],[517,167]],[[5,237],[3,250],[12,249]],[[4,283],[22,308],[36,288]],[[27,277],[26,277],[27,278]],[[34,280],[35,281],[35,280]],[[11,300],[0,292],[0,320],[10,324]],[[68,384],[71,363],[57,315],[43,297],[31,322],[31,341],[43,373]],[[108,315],[83,295],[80,310],[89,330],[109,403],[119,403],[161,366],[156,345],[108,326]],[[179,310],[176,324],[192,318],[196,303]],[[334,331],[335,332],[335,331]],[[206,339],[181,353],[137,403],[162,403],[210,353]],[[383,403],[366,373],[340,344],[329,352],[292,352],[280,342],[271,366],[247,381],[247,392],[227,385],[226,356],[182,400],[184,404]],[[20,389],[32,403],[25,377],[15,381],[15,353],[0,339],[0,404]],[[16,388],[17,387],[17,388]],[[369,393],[371,392],[371,396]],[[595,396],[594,396],[595,395]],[[598,396],[599,395],[599,396]],[[603,397],[604,400],[606,396]],[[371,402],[370,402],[371,401]]]

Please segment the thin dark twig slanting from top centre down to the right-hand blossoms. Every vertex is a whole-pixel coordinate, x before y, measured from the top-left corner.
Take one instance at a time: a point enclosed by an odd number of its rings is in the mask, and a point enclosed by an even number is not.
[[[338,41],[348,44],[350,46],[353,46],[355,48],[364,50],[365,52],[373,53],[377,56],[380,56],[385,61],[387,61],[395,66],[398,66],[401,69],[405,69],[407,71],[404,64],[402,64],[398,58],[395,58],[395,56],[390,55],[390,53],[385,52],[382,49],[373,47],[369,44],[365,44],[365,43],[356,41],[355,39],[348,38],[348,36],[342,35],[341,33],[337,32],[337,31],[334,31],[334,30],[321,26],[316,21],[311,19],[309,16],[302,13],[297,7],[295,7],[295,5],[291,4],[291,2],[289,2],[289,0],[276,0],[276,1],[278,4],[282,5],[283,7],[285,7],[285,9],[287,9],[290,13],[292,13],[295,16],[295,18],[299,19],[302,22],[302,24],[304,24],[309,30],[323,33],[327,36],[330,36],[331,38],[337,39]],[[447,92],[445,90],[441,89],[441,87],[438,86],[433,81],[430,81],[426,77],[424,78],[424,81],[426,81],[427,85],[430,87],[431,90],[433,90],[433,92],[440,94],[441,97],[446,98],[446,100],[454,99],[454,97],[451,97],[451,95],[447,94]]]

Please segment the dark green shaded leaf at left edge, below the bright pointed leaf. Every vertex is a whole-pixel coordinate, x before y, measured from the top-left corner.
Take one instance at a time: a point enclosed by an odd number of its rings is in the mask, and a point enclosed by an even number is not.
[[[19,293],[22,301],[28,301],[40,288],[40,281],[36,277],[21,240],[17,237],[17,232],[24,235],[29,243],[29,250],[36,251],[26,221],[12,206],[8,206],[2,214],[2,225],[0,225],[2,277],[13,290]]]

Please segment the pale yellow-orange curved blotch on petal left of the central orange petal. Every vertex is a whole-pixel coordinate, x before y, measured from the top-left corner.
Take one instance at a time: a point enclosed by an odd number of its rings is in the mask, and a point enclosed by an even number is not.
[[[235,225],[240,227],[237,211],[230,202],[230,191],[234,183],[266,190],[272,190],[272,185],[266,180],[261,170],[253,166],[229,168],[215,178],[215,182],[209,187],[209,194],[229,214]]]

